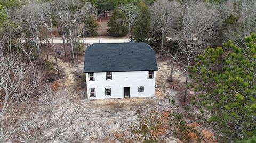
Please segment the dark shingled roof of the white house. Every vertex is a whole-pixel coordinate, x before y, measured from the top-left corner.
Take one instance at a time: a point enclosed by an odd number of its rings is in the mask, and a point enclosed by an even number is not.
[[[87,47],[84,72],[158,70],[155,52],[146,43],[94,43]]]

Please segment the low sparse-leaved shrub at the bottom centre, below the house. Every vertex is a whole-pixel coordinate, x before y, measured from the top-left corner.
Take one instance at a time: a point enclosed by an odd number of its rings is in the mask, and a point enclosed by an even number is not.
[[[168,119],[162,119],[162,111],[154,108],[137,113],[137,121],[129,125],[121,123],[116,138],[120,142],[162,142],[159,132],[167,128]]]

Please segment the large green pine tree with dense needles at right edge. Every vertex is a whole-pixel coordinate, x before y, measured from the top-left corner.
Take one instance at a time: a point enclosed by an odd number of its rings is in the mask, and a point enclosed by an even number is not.
[[[196,66],[189,68],[202,91],[198,106],[211,112],[206,120],[223,142],[256,134],[256,34],[246,37],[244,45],[230,40],[224,48],[208,47]]]

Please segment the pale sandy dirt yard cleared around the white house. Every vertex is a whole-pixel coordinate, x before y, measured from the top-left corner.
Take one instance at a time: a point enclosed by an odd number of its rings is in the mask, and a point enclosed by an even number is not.
[[[49,56],[48,60],[54,62],[53,56]],[[73,112],[77,105],[81,105],[79,107],[81,113],[75,117],[67,133],[72,134],[75,131],[76,136],[79,137],[76,141],[116,142],[115,132],[120,124],[135,121],[138,110],[146,111],[149,108],[160,111],[170,110],[169,99],[177,100],[177,97],[176,91],[166,81],[170,74],[169,62],[169,60],[157,61],[155,97],[88,100],[83,60],[71,64],[59,59],[59,68],[64,72],[64,77],[53,82],[53,85],[58,85],[53,88],[54,99],[58,100],[54,106],[59,108],[57,111],[68,107],[68,110]],[[184,76],[179,70],[175,70],[174,79],[183,82]],[[65,134],[62,136],[65,138]],[[167,142],[173,142],[172,138],[163,138]]]

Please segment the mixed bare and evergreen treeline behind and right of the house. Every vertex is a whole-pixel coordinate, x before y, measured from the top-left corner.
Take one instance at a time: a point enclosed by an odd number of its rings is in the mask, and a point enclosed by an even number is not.
[[[130,40],[145,41],[160,58],[163,53],[172,55],[172,81],[175,62],[188,71],[207,46],[221,46],[229,39],[241,45],[245,36],[255,32],[255,7],[252,0],[139,1],[117,6],[108,32],[117,37],[129,33]]]

